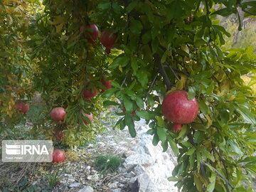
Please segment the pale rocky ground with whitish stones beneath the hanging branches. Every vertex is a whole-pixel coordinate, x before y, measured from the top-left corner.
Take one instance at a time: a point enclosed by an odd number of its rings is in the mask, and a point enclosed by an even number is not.
[[[137,122],[137,137],[126,131],[107,129],[96,141],[85,148],[67,152],[67,160],[60,164],[40,164],[31,178],[36,191],[58,178],[53,190],[62,192],[169,192],[178,191],[167,181],[174,169],[175,157],[171,151],[163,153],[161,146],[151,144],[151,135],[144,121]],[[93,164],[99,154],[114,154],[122,158],[122,165],[112,173],[100,173]],[[50,173],[50,176],[46,176]],[[50,179],[49,179],[50,178]],[[1,190],[0,190],[1,191]],[[4,192],[4,191],[3,191]]]

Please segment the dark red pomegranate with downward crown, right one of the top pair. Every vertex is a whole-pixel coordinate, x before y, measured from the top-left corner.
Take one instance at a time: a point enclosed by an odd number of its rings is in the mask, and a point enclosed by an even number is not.
[[[110,49],[113,48],[114,43],[117,41],[117,34],[110,31],[103,31],[100,36],[100,42],[103,46],[105,46],[107,53],[110,53]]]

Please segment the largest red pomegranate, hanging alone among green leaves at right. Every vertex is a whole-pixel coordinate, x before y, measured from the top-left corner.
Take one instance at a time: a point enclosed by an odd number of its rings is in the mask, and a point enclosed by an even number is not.
[[[188,100],[188,92],[176,90],[164,97],[162,112],[167,120],[176,124],[191,123],[198,115],[198,102],[196,98]]]

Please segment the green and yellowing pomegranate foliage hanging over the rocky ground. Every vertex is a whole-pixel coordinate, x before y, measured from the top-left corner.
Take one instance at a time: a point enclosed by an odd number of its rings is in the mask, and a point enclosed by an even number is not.
[[[255,95],[241,76],[250,74],[255,84],[256,55],[252,46],[223,49],[230,33],[216,17],[236,14],[240,21],[239,10],[255,15],[256,1],[1,0],[1,132],[31,118],[17,114],[15,102],[39,92],[34,137],[64,129],[66,144],[80,144],[100,131],[82,123],[82,112],[97,114],[104,101],[125,107],[119,129],[135,137],[134,121],[145,119],[153,144],[171,146],[178,165],[169,180],[182,191],[253,191]],[[111,54],[80,31],[92,23],[117,33]],[[112,88],[84,100],[83,90],[104,88],[105,75]],[[161,114],[159,95],[170,90],[188,91],[201,109],[178,134]],[[53,107],[68,112],[63,124],[50,120]]]

